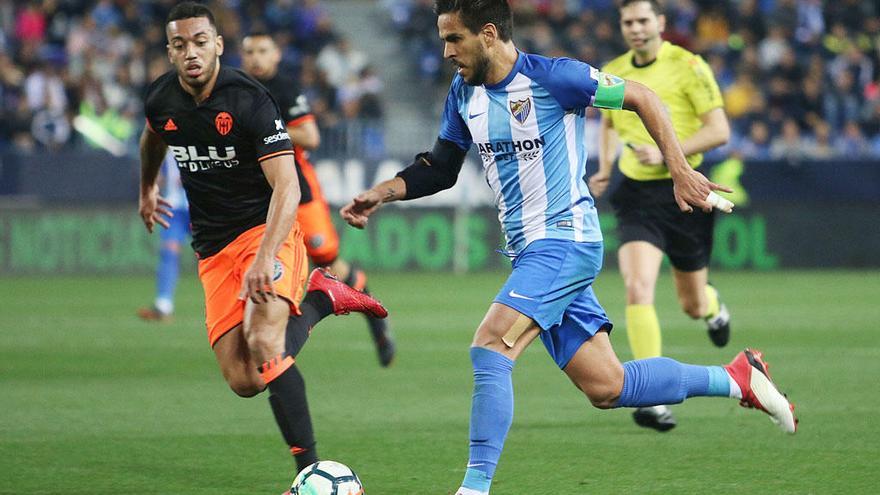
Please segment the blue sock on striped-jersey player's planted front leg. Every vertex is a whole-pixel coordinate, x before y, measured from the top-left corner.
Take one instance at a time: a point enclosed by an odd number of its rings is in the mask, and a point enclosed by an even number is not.
[[[488,492],[513,422],[513,361],[498,352],[471,347],[474,397],[471,403],[470,458],[461,486]]]

